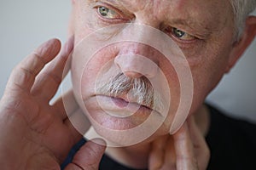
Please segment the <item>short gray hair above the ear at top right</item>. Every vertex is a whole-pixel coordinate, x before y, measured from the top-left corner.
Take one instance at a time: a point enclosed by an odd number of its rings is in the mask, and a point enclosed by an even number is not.
[[[247,16],[256,8],[256,0],[230,0],[234,13],[236,39],[241,37]]]

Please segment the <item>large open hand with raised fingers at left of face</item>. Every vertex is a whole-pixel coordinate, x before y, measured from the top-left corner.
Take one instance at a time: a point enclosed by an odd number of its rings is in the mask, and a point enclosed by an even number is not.
[[[49,105],[73,51],[73,38],[59,54],[60,49],[59,40],[44,42],[15,67],[9,78],[0,100],[0,168],[3,170],[60,169],[59,164],[68,151],[81,139],[69,120],[81,113],[73,93],[66,96],[73,104],[68,117],[62,99]],[[96,169],[104,150],[105,146],[91,141],[84,144],[67,170]]]

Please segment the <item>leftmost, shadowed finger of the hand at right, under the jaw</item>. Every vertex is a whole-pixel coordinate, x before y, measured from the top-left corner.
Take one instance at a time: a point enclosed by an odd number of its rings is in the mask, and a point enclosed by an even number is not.
[[[151,144],[151,150],[148,156],[148,169],[156,170],[160,169],[164,163],[165,146],[168,137],[163,136],[160,139],[156,139]]]

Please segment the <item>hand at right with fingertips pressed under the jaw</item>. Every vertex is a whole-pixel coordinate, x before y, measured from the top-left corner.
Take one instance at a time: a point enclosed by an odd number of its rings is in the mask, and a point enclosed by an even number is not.
[[[209,158],[207,143],[190,116],[177,133],[154,141],[148,159],[150,170],[204,170]]]

